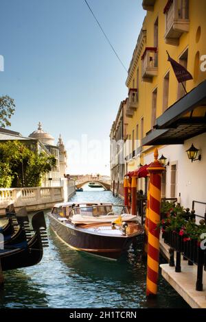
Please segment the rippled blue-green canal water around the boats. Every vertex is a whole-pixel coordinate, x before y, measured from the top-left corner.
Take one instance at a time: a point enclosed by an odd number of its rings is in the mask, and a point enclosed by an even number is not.
[[[72,201],[111,201],[122,204],[103,188],[84,186]],[[49,229],[49,247],[34,267],[5,272],[0,308],[187,308],[159,279],[157,299],[147,300],[146,263],[131,249],[120,262],[99,259],[69,249]]]

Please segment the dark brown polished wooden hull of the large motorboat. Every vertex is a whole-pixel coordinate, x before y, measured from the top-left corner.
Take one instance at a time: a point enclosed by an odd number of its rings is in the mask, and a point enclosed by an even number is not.
[[[122,253],[127,251],[139,236],[104,236],[100,234],[91,234],[82,231],[78,226],[72,224],[65,225],[58,220],[56,214],[49,214],[49,222],[52,230],[63,240],[69,247],[78,251],[86,251],[93,255],[104,258],[117,260]]]

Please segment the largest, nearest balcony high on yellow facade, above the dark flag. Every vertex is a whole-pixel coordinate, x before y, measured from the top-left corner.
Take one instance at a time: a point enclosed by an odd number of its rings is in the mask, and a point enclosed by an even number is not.
[[[189,0],[169,0],[165,5],[165,42],[178,46],[179,38],[189,32]]]

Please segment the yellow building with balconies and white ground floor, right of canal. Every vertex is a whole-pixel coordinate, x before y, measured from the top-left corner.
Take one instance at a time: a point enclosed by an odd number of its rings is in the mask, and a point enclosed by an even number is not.
[[[191,208],[193,200],[206,201],[201,175],[206,172],[205,0],[143,0],[142,5],[146,17],[126,79],[124,169],[133,171],[140,163],[149,164],[154,145],[159,147],[159,156],[163,154],[168,164],[163,197],[181,195],[183,206]],[[194,77],[183,84],[187,95],[177,82],[167,51]],[[187,158],[185,151],[192,143],[201,149],[201,161]],[[144,179],[138,181],[139,189],[145,190]]]

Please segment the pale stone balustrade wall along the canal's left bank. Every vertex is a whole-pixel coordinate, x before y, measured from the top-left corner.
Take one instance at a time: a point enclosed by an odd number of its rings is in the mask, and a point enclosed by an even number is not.
[[[45,210],[55,203],[68,201],[75,192],[75,182],[68,179],[62,179],[57,187],[1,188],[0,216],[10,203],[14,203],[16,210],[21,207],[26,207],[28,212]]]

